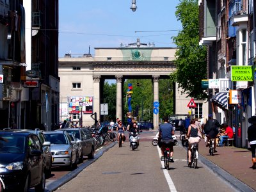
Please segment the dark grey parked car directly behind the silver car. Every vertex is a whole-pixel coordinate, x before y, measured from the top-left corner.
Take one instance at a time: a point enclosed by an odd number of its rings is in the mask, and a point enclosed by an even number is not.
[[[86,128],[67,128],[60,129],[63,131],[67,131],[68,133],[74,133],[78,143],[81,143],[83,152],[80,156],[80,161],[83,156],[88,156],[89,159],[94,158],[94,153],[96,149],[96,142],[92,137],[92,133]]]

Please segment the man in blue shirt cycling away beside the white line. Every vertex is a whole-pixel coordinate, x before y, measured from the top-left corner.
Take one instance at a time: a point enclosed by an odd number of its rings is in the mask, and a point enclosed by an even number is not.
[[[170,162],[173,161],[173,139],[172,135],[174,134],[174,130],[171,124],[168,123],[168,118],[164,117],[164,124],[161,124],[159,127],[159,138],[161,140],[161,160],[164,159],[164,150],[166,147],[170,147]]]

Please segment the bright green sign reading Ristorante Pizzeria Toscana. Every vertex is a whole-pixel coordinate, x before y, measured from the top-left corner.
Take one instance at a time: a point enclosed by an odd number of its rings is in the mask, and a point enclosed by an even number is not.
[[[231,81],[253,81],[252,66],[231,66]]]

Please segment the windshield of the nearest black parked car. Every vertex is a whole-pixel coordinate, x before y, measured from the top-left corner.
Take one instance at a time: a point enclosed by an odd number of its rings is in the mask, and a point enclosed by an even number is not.
[[[0,141],[0,153],[19,153],[25,151],[25,136],[13,134],[0,134],[3,140]]]

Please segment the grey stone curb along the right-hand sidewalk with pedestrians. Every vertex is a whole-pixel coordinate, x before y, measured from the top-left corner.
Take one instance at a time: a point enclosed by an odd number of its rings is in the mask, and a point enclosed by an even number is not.
[[[182,146],[182,143],[180,141],[178,141],[178,142]],[[187,147],[183,147],[183,148],[184,148],[184,150],[188,150]],[[223,168],[221,168],[217,164],[212,163],[212,161],[205,158],[204,156],[202,156],[199,153],[198,153],[198,157],[199,157],[198,161],[203,163],[207,168],[209,168],[209,170],[211,170],[211,172],[213,172],[216,175],[218,175],[219,177],[221,177],[221,179],[225,180],[225,182],[230,184],[230,186],[232,186],[237,191],[244,191],[244,192],[255,191],[250,186],[244,184],[241,180],[236,179],[236,177],[234,177],[234,175],[231,175],[230,173],[226,172],[225,170],[223,170]]]

